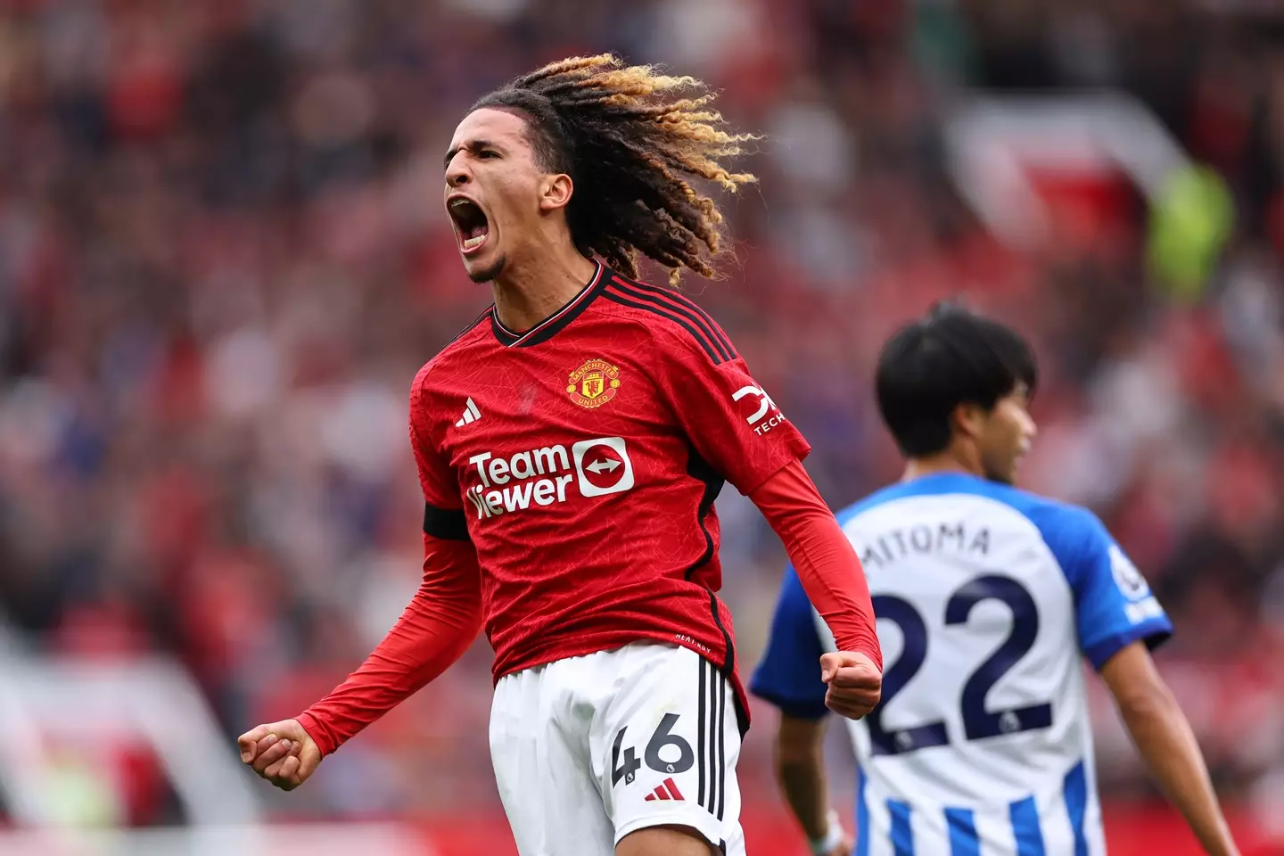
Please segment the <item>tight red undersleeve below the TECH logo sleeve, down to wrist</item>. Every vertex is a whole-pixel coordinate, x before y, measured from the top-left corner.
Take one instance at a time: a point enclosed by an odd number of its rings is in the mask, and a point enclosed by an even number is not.
[[[882,669],[860,560],[802,465],[778,472],[751,499],[779,535],[808,599],[833,633],[838,649],[864,653]]]

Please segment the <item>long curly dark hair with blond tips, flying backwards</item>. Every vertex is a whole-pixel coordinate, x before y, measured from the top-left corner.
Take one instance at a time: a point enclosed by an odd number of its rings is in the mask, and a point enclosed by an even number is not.
[[[677,98],[682,95],[682,98]],[[734,193],[756,181],[719,159],[756,139],[727,130],[715,95],[693,77],[625,65],[612,54],[573,56],[490,92],[473,109],[517,112],[529,122],[539,166],[575,182],[566,209],[571,237],[620,273],[638,275],[638,254],[669,268],[713,276],[722,213],[683,176]]]

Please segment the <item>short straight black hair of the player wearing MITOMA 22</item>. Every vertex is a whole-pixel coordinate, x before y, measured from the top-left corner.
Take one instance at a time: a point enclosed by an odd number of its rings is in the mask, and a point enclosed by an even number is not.
[[[993,409],[1019,384],[1039,380],[1028,343],[1012,327],[954,303],[939,303],[887,340],[878,355],[878,411],[901,453],[944,452],[959,404]]]

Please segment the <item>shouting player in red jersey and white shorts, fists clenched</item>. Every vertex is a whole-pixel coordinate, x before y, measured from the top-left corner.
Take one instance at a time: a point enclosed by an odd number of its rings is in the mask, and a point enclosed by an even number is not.
[[[240,738],[290,789],[439,675],[484,626],[490,749],[529,856],[743,853],[747,710],[718,599],[723,481],[779,534],[838,652],[829,706],[878,702],[860,563],[809,447],[719,326],[637,281],[639,254],[714,272],[727,131],[690,77],[573,58],[483,98],[446,153],[465,270],[494,304],[416,376],[424,581],[384,642],[298,719]]]

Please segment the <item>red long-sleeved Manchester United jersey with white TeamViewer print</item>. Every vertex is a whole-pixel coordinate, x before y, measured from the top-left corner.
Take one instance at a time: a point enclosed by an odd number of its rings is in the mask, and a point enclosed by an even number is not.
[[[453,662],[478,601],[496,680],[677,643],[727,672],[747,725],[716,597],[724,481],[768,515],[838,644],[881,662],[859,561],[799,463],[810,447],[722,329],[672,290],[600,266],[525,332],[489,309],[415,379],[411,440],[424,586],[366,665],[300,717],[324,752]]]

